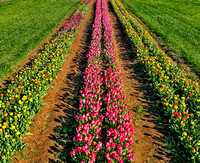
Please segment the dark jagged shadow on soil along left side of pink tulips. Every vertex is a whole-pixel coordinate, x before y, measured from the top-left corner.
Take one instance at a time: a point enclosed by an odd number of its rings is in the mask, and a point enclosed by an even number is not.
[[[95,11],[95,4],[92,6],[92,13]],[[94,15],[92,15],[90,21],[87,22],[84,31],[84,36],[81,39],[80,50],[76,52],[76,57],[71,64],[71,74],[66,76],[66,88],[63,89],[65,92],[60,96],[60,100],[63,102],[61,105],[57,105],[58,111],[64,111],[64,117],[60,119],[54,119],[59,121],[61,126],[56,127],[56,135],[51,135],[50,139],[55,140],[59,146],[62,146],[62,151],[58,150],[58,145],[54,145],[49,150],[50,153],[54,153],[55,159],[49,159],[49,162],[72,162],[70,152],[72,151],[73,137],[76,134],[77,123],[74,119],[77,108],[79,107],[79,90],[83,87],[84,80],[83,75],[87,64],[87,58],[85,54],[88,53],[88,47],[90,46],[92,25]]]

